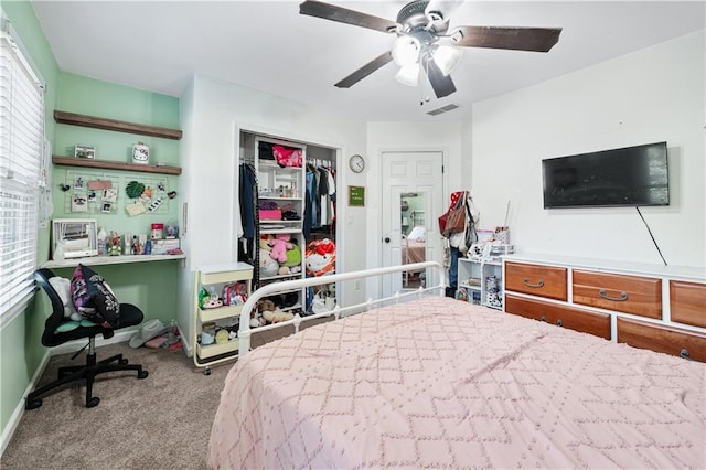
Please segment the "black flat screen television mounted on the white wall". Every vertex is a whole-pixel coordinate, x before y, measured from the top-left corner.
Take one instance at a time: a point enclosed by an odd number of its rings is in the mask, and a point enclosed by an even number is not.
[[[542,160],[544,209],[668,205],[666,142]]]

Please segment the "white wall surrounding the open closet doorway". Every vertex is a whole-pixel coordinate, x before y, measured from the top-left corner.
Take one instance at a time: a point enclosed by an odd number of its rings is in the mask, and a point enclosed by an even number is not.
[[[189,254],[180,281],[180,325],[189,324],[193,308],[193,271],[203,265],[237,259],[235,212],[237,197],[238,132],[246,129],[342,150],[339,162],[339,194],[347,184],[364,184],[365,177],[347,171],[347,156],[366,150],[366,128],[361,120],[349,119],[309,106],[268,95],[232,83],[195,76],[181,97],[182,169],[180,197],[188,206],[181,222],[184,252]],[[342,201],[345,201],[342,199]],[[364,227],[365,214],[346,211],[338,204],[342,229],[338,234],[339,253],[365,253],[366,238],[345,231]],[[347,233],[346,233],[347,232]],[[359,233],[360,235],[360,233]],[[362,256],[341,256],[339,267],[364,269]],[[343,301],[363,301],[364,292],[341,292]],[[347,299],[350,296],[351,299]],[[191,330],[191,325],[189,327]],[[190,333],[186,333],[190,334]],[[190,344],[191,345],[191,344]]]

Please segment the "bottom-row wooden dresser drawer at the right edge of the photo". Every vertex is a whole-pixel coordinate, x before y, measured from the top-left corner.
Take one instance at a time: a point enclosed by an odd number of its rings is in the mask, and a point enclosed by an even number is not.
[[[695,331],[618,318],[618,342],[706,362],[706,334]]]

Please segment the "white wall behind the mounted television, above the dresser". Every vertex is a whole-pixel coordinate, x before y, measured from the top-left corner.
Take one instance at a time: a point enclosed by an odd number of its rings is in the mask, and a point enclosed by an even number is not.
[[[473,107],[472,194],[481,226],[518,250],[661,264],[634,207],[543,209],[544,158],[666,141],[671,204],[641,207],[674,266],[704,267],[704,31]]]

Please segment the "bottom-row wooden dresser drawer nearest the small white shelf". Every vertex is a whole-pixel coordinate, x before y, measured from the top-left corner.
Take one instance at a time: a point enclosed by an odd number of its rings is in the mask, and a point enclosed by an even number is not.
[[[610,340],[610,314],[505,295],[505,312]]]

